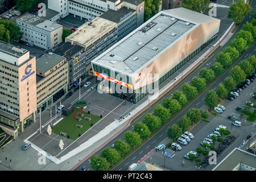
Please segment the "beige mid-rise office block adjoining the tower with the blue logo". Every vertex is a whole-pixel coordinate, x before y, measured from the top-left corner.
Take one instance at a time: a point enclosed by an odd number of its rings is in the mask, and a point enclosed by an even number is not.
[[[36,60],[36,113],[68,92],[68,62],[49,52]]]

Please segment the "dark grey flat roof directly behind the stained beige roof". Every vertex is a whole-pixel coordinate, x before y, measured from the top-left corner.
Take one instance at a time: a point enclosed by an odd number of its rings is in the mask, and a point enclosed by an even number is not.
[[[127,9],[127,7],[123,6],[118,11],[114,11],[112,9],[109,9],[104,14],[102,14],[100,17],[104,19],[108,19],[112,22],[119,23],[122,22],[122,19],[131,14],[133,14],[135,10],[133,9]]]

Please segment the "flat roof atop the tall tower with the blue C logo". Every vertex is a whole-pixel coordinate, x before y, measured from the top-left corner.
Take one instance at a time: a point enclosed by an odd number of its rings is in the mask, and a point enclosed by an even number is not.
[[[23,49],[3,41],[0,41],[0,51],[17,58],[28,52],[27,49]]]

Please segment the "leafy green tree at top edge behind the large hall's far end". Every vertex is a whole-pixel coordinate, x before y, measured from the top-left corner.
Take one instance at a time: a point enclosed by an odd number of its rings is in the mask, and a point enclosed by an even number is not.
[[[204,14],[210,10],[209,0],[183,0],[182,7]]]

